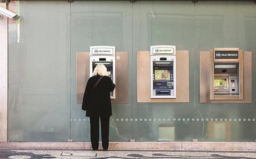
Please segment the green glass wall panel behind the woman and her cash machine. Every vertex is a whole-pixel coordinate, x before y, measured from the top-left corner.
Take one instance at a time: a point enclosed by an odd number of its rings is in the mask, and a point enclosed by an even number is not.
[[[90,121],[76,104],[76,52],[89,52],[90,46],[116,46],[116,52],[129,53],[129,74],[132,57],[132,3],[129,1],[75,1],[71,9],[72,20],[72,105],[71,138],[90,141]],[[85,62],[87,63],[87,62]],[[129,75],[129,104],[112,104],[110,141],[128,141],[132,135],[132,83]]]

